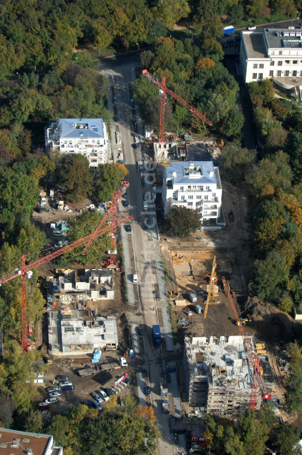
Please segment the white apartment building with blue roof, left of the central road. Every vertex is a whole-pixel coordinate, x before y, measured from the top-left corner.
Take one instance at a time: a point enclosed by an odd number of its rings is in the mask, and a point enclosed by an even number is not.
[[[60,154],[80,153],[91,168],[109,161],[106,125],[101,118],[59,118],[45,128],[45,146]]]

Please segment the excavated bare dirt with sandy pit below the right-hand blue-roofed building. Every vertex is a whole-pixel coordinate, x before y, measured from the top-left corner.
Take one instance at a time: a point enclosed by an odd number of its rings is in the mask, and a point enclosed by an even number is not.
[[[248,237],[248,197],[244,188],[234,187],[223,182],[223,210],[227,225],[214,232],[197,232],[190,239],[161,239],[161,251],[169,278],[167,291],[180,291],[186,303],[191,308],[192,318],[188,318],[186,328],[178,328],[176,339],[180,346],[183,338],[196,335],[235,335],[239,334],[233,311],[227,298],[222,292],[221,278],[224,276],[231,282],[235,291],[235,303],[239,316],[251,315],[251,322],[245,327],[247,334],[254,335],[255,342],[265,342],[275,382],[275,395],[283,399],[285,393],[285,375],[277,362],[282,345],[292,340],[294,324],[290,316],[282,313],[275,305],[263,303],[256,298],[248,297],[247,286],[251,278],[252,261]],[[228,212],[233,210],[234,222],[228,222]],[[210,305],[207,318],[194,311],[196,304],[204,309],[207,298],[208,278],[211,273],[214,255],[216,255],[217,276],[220,303]],[[188,294],[195,293],[197,302],[191,305]],[[176,320],[185,318],[182,307],[173,305]],[[280,415],[288,421],[283,405]],[[298,419],[298,417],[297,417]]]

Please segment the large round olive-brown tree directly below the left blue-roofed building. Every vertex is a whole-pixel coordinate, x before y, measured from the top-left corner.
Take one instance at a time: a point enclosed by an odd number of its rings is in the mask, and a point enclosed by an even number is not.
[[[80,154],[65,157],[59,172],[60,184],[65,189],[66,198],[79,202],[88,197],[93,190],[93,177],[89,170],[89,161]]]

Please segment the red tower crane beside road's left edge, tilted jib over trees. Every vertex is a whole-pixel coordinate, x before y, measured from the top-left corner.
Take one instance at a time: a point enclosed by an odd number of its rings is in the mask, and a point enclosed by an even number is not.
[[[115,258],[115,248],[116,248],[116,240],[115,240],[115,227],[116,227],[116,213],[117,213],[117,207],[118,207],[118,202],[120,198],[123,196],[124,192],[129,188],[129,182],[127,180],[123,180],[121,183],[121,187],[119,188],[119,191],[114,191],[112,193],[112,204],[111,207],[108,209],[108,212],[105,214],[103,217],[102,221],[99,223],[99,226],[95,230],[97,232],[99,229],[101,229],[105,222],[109,221],[109,217],[111,216],[111,242],[110,242],[110,258],[108,263],[106,264],[105,268],[108,268],[110,265],[119,268],[118,263]],[[83,253],[86,254],[88,248],[90,247],[92,243],[92,240],[89,240],[87,245],[85,246]]]

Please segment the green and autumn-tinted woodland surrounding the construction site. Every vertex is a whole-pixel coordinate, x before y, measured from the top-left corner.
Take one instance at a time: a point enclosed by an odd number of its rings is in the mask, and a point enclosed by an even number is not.
[[[255,276],[251,279],[251,292],[275,302],[284,311],[290,311],[292,304],[298,309],[302,293],[301,111],[286,101],[276,102],[272,87],[265,81],[249,86],[255,127],[263,144],[262,157],[255,162],[255,155],[240,147],[243,116],[235,108],[238,84],[223,66],[218,39],[223,26],[230,23],[246,26],[250,22],[296,18],[297,10],[302,11],[301,0],[3,0],[0,4],[0,274],[14,268],[22,254],[35,260],[44,248],[45,233],[30,221],[40,187],[56,185],[70,201],[91,195],[106,200],[127,175],[124,166],[108,165],[99,167],[92,177],[88,161],[79,155],[70,159],[62,159],[56,153],[46,156],[44,128],[59,117],[101,117],[109,123],[107,81],[97,71],[99,56],[106,50],[132,51],[138,42],[143,49],[141,67],[147,67],[158,78],[165,74],[169,86],[183,93],[213,121],[213,127],[208,129],[194,121],[183,107],[167,100],[167,127],[220,134],[233,141],[224,149],[220,165],[232,182],[248,185],[253,201],[250,227]],[[189,30],[182,38],[170,36],[173,25],[180,20],[192,27],[194,39]],[[146,107],[145,119],[158,127],[157,89],[140,77],[135,96],[139,105]],[[70,238],[79,238],[98,222],[99,215],[88,220],[83,214],[70,226]],[[108,247],[108,242],[104,238],[94,245],[87,256],[88,263],[94,260],[98,248]],[[79,260],[79,252],[75,250],[73,256],[64,258],[70,260]],[[265,287],[264,280],[257,278],[261,274],[270,278]],[[32,281],[36,282],[38,276],[38,271],[34,271]],[[12,280],[0,288],[0,329],[13,334],[12,339],[6,337],[5,359],[0,364],[1,425],[57,432],[58,442],[69,447],[66,453],[77,453],[86,447],[86,453],[93,454],[86,431],[89,425],[98,428],[100,438],[112,428],[117,432],[119,422],[127,430],[128,439],[120,441],[118,450],[153,453],[153,440],[158,437],[153,416],[144,415],[136,404],[129,403],[129,413],[124,415],[116,408],[108,410],[108,420],[106,414],[101,419],[92,411],[79,408],[44,426],[31,404],[37,392],[30,379],[40,355],[30,352],[23,356],[18,344],[19,284]],[[35,324],[42,318],[44,303],[40,289],[33,287],[28,295],[28,318]],[[301,356],[296,358],[298,376]],[[298,386],[299,381],[292,384],[292,397]],[[71,431],[74,422],[77,426]],[[212,453],[256,453],[246,449],[248,437],[252,439],[250,434],[240,440],[228,428],[229,442],[224,447],[221,428],[211,425],[216,440]],[[133,427],[139,435],[149,431],[148,448],[143,447],[141,438],[134,440]],[[76,437],[74,428],[83,430],[80,437]],[[269,433],[267,428],[263,430],[265,435]],[[297,434],[290,436],[296,438]],[[109,450],[104,443],[98,446],[99,450],[117,453],[114,438],[113,432],[113,448]],[[281,441],[276,444],[281,445]]]

